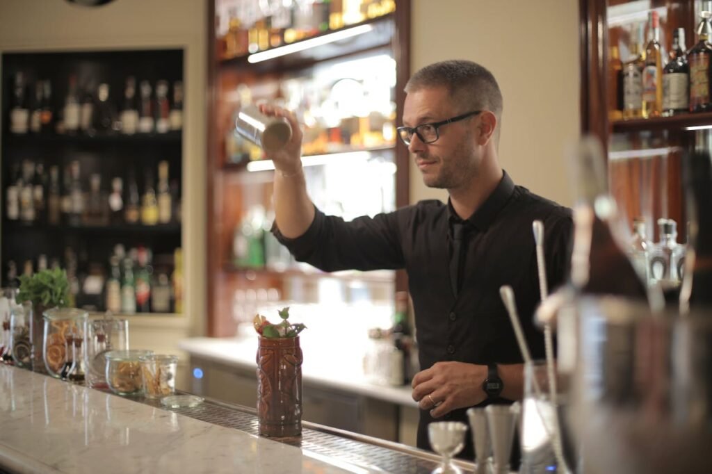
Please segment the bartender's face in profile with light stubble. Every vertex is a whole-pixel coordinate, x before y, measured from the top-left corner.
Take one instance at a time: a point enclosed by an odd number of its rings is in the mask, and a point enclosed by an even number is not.
[[[414,90],[405,98],[403,123],[407,127],[417,127],[469,112],[452,102],[446,88]],[[433,143],[424,143],[413,135],[408,150],[413,154],[426,186],[454,190],[471,184],[480,162],[475,120],[478,118],[470,117],[442,125],[438,130],[439,138]]]

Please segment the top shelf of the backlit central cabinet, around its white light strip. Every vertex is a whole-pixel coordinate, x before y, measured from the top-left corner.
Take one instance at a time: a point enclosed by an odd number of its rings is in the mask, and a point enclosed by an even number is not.
[[[350,56],[354,53],[363,53],[375,48],[384,48],[391,46],[394,32],[393,20],[394,14],[387,14],[379,16],[375,19],[349,25],[345,28],[330,30],[325,33],[310,36],[309,38],[304,38],[303,40],[295,41],[294,43],[289,43],[288,45],[280,46],[278,48],[299,45],[300,43],[305,43],[306,41],[313,40],[314,38],[323,38],[324,36],[328,36],[332,33],[348,31],[363,25],[371,25],[373,27],[372,31],[369,31],[368,33],[352,36],[333,43],[310,47],[303,51],[289,53],[285,56],[279,56],[278,58],[265,60],[259,63],[249,63],[248,58],[251,55],[246,54],[235,58],[221,59],[218,61],[218,65],[227,68],[250,68],[252,72],[256,73],[269,73],[277,70],[303,68],[324,60],[342,58],[344,56]],[[278,48],[269,48],[264,51],[274,51]],[[261,52],[262,51],[260,51],[260,53]]]

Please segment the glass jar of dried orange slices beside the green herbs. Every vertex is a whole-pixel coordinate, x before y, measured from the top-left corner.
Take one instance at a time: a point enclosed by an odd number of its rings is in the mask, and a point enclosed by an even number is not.
[[[71,307],[54,307],[43,313],[42,358],[48,374],[61,378],[75,337],[83,338],[87,312]]]

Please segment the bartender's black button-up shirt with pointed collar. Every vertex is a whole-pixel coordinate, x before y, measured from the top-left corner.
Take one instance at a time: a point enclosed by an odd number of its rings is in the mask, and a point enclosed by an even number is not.
[[[316,212],[298,238],[273,232],[299,261],[325,271],[405,268],[415,310],[419,362],[427,369],[439,361],[471,364],[523,362],[499,288],[510,285],[532,356],[544,357],[543,334],[533,324],[540,300],[532,222],[545,228],[548,288],[563,283],[570,262],[571,211],[515,186],[508,174],[493,193],[463,221],[452,206],[420,201],[373,218],[345,222]],[[461,223],[459,282],[451,282],[452,226]],[[454,290],[457,290],[454,293]],[[466,421],[466,409],[452,412]],[[429,448],[421,411],[418,446]],[[461,453],[471,458],[468,441]]]

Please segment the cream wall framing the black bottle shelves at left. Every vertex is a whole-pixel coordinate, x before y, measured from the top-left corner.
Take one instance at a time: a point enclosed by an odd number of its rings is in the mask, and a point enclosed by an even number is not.
[[[205,322],[206,0],[117,0],[88,8],[64,0],[0,0],[0,53],[184,48],[183,237],[185,317],[137,316],[132,347],[174,352]]]

